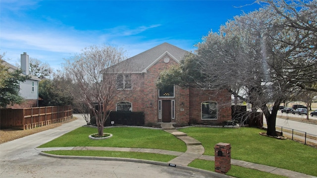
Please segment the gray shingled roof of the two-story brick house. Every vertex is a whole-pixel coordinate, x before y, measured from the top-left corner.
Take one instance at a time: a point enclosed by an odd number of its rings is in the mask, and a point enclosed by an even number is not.
[[[183,56],[188,51],[176,47],[174,45],[170,45],[168,43],[163,43],[161,45],[157,45],[151,49],[148,49],[140,54],[137,54],[133,57],[130,57],[117,65],[115,67],[121,67],[128,65],[129,69],[126,72],[129,73],[142,73],[146,71],[151,65],[156,62],[163,54],[168,53],[175,60],[180,61],[183,59]],[[114,66],[113,66],[114,67]]]

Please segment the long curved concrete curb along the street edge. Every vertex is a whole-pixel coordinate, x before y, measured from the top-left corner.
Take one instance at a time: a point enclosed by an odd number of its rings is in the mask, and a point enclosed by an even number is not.
[[[134,162],[134,163],[145,163],[145,164],[152,164],[152,165],[159,165],[170,167],[171,169],[183,169],[188,171],[194,171],[198,173],[203,173],[212,178],[234,178],[225,174],[220,174],[212,171],[202,170],[198,168],[188,167],[188,166],[177,166],[175,167],[169,166],[168,163],[159,162],[159,161],[151,161],[151,160],[141,160],[141,159],[134,159],[134,158],[114,158],[114,157],[98,157],[98,156],[65,156],[65,155],[54,155],[49,153],[44,153],[42,151],[38,151],[39,155],[52,157],[52,158],[60,158],[60,159],[78,159],[78,160],[102,160],[102,161],[124,161],[124,162]]]

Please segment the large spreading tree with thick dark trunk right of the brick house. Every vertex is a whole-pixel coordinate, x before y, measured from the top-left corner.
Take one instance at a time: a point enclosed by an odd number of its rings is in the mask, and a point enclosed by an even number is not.
[[[304,9],[298,14],[316,19],[316,13],[307,12],[313,9]],[[197,44],[196,55],[189,55],[179,69],[166,72],[160,80],[200,89],[227,89],[234,97],[252,104],[250,114],[261,109],[267,134],[276,136],[279,105],[290,98],[294,89],[309,89],[309,83],[317,83],[316,43],[308,40],[316,33],[289,28],[286,21],[268,7],[236,16],[218,33],[204,37]],[[303,40],[310,45],[300,45]],[[274,104],[269,112],[271,102]]]

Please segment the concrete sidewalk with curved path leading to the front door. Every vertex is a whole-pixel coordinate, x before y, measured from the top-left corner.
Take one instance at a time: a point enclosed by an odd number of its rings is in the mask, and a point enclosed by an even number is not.
[[[106,151],[132,151],[132,152],[143,152],[143,153],[158,153],[158,154],[166,154],[166,155],[174,155],[177,156],[176,158],[169,161],[169,163],[175,164],[177,167],[181,167],[183,169],[190,169],[187,165],[194,161],[195,159],[203,159],[214,161],[214,156],[203,155],[205,152],[202,143],[198,140],[188,136],[185,133],[177,131],[170,125],[164,124],[161,126],[165,132],[175,135],[177,138],[183,140],[187,145],[187,151],[184,152],[177,152],[177,151],[169,151],[169,150],[161,150],[161,149],[146,149],[146,148],[118,148],[118,147],[50,147],[50,148],[36,148],[38,151],[49,151],[49,150],[106,150]],[[58,155],[49,155],[46,153],[41,153],[42,155],[52,156],[52,157],[62,157],[65,156],[58,156]],[[67,156],[66,156],[67,157]],[[93,159],[93,158],[91,158]],[[100,158],[105,160],[117,160],[127,161],[127,158]],[[130,159],[128,161],[136,161],[136,159]],[[140,161],[140,160],[139,160]],[[151,161],[151,164],[158,164],[161,165],[161,162]],[[231,165],[241,166],[249,169],[255,169],[275,175],[286,176],[288,178],[317,178],[314,176],[306,175],[303,173],[298,173],[290,170],[280,169],[276,167],[235,160],[231,159]],[[194,169],[194,168],[193,168]],[[227,177],[223,175],[223,177]]]

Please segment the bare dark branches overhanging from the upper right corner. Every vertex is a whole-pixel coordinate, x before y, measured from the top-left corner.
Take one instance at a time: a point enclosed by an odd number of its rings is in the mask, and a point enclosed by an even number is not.
[[[317,0],[258,0],[279,23],[268,23],[279,34],[271,36],[280,43],[275,52],[286,56],[292,65],[287,82],[304,90],[317,91]],[[275,21],[276,22],[276,21]],[[283,35],[282,35],[283,34]],[[293,59],[293,60],[289,60]]]

